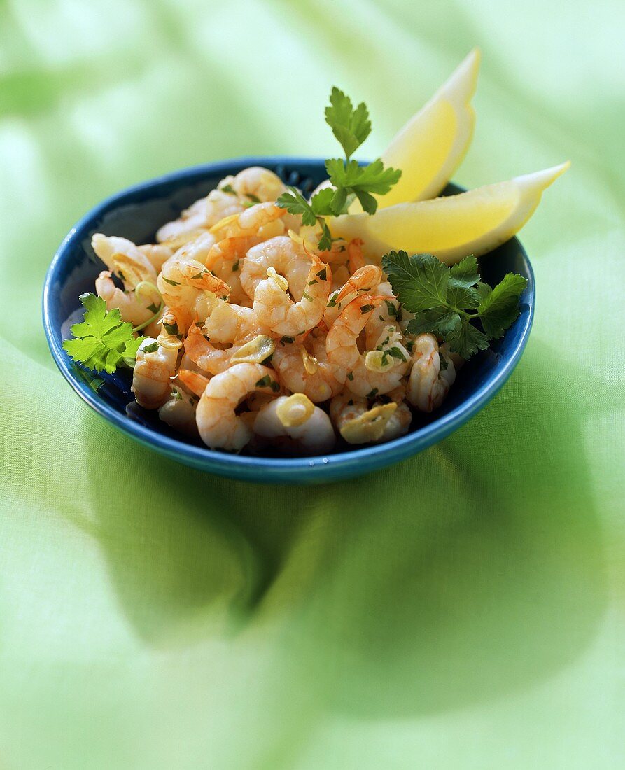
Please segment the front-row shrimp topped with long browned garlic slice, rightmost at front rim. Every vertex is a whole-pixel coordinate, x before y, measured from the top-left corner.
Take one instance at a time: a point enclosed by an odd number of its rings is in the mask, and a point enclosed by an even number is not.
[[[402,397],[376,402],[343,391],[330,402],[330,416],[348,444],[381,444],[408,432],[413,415]]]

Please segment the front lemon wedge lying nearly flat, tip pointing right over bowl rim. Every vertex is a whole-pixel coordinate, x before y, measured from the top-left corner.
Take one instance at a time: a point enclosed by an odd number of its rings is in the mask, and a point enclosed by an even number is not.
[[[512,238],[533,214],[543,190],[570,162],[462,192],[460,195],[396,203],[375,214],[328,219],[334,238],[362,238],[364,252],[379,263],[393,249],[429,253],[453,265],[480,256]]]

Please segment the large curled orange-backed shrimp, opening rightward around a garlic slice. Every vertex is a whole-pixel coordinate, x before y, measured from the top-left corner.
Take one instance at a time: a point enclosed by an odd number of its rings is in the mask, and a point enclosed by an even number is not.
[[[408,360],[398,361],[387,356],[381,366],[373,369],[367,366],[366,353],[360,353],[359,335],[383,300],[383,296],[371,294],[356,297],[341,312],[326,337],[328,361],[336,380],[357,396],[373,398],[388,393],[399,385],[409,366]]]

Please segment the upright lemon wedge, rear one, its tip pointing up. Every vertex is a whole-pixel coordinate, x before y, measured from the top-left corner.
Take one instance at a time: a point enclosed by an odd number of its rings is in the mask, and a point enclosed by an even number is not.
[[[383,152],[385,168],[402,169],[402,176],[390,192],[376,196],[380,208],[433,198],[450,181],[473,137],[470,102],[479,69],[480,50],[473,49]],[[349,213],[362,210],[356,200]]]

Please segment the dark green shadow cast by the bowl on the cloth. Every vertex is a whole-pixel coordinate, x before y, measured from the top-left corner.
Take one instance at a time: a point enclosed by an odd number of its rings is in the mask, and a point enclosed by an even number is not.
[[[545,380],[552,359],[533,343],[466,427],[336,485],[222,480],[110,430],[108,449],[88,450],[82,526],[148,646],[261,645],[294,691],[350,714],[523,690],[587,648],[606,601],[582,414]],[[109,484],[116,474],[135,478],[132,500]]]

